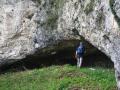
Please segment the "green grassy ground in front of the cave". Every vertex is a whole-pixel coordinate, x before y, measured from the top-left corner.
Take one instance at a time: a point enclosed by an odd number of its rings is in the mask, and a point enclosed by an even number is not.
[[[51,66],[0,75],[0,90],[116,90],[113,69]]]

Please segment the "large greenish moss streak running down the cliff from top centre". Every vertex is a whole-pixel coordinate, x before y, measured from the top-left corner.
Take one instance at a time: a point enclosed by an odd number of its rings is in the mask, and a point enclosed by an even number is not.
[[[56,28],[59,13],[62,12],[65,0],[49,0],[50,8],[47,11],[46,25],[52,29]]]

